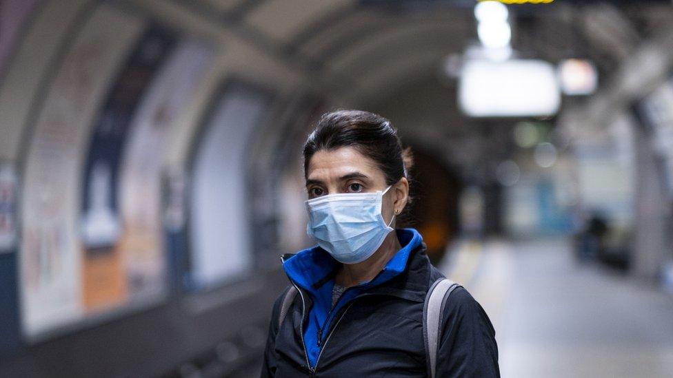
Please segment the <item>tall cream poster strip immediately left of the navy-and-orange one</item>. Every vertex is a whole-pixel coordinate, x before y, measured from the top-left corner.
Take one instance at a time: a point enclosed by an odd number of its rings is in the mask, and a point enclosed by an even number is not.
[[[142,30],[139,18],[97,8],[57,63],[42,107],[27,127],[19,288],[21,326],[29,339],[85,315],[78,222],[81,151],[86,151],[92,119],[110,81]],[[101,172],[104,183],[108,178]]]

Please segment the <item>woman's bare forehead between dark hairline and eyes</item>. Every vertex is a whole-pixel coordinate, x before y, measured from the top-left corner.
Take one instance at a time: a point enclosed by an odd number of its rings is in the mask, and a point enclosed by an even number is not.
[[[354,172],[365,174],[374,180],[383,179],[383,172],[376,162],[353,147],[316,151],[309,162],[306,178],[334,180]]]

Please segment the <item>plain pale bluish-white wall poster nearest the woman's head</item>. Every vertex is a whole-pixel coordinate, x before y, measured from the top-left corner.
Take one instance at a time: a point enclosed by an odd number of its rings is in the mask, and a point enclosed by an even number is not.
[[[203,125],[190,169],[190,289],[239,279],[252,268],[247,154],[270,100],[268,92],[230,81]]]

